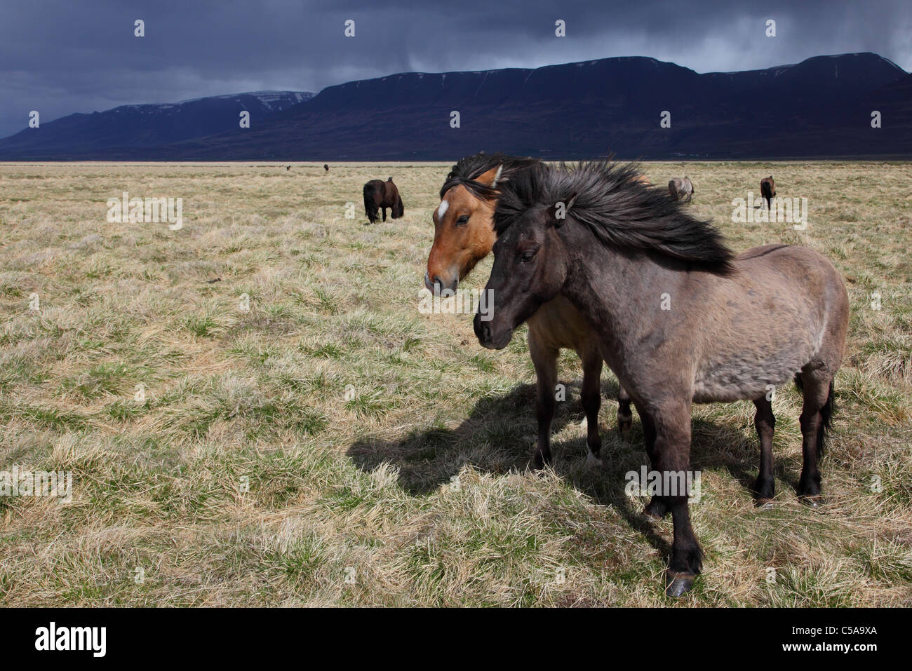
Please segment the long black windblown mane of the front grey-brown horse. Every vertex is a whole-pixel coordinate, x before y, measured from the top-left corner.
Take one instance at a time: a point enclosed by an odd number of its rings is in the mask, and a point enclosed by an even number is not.
[[[652,250],[714,273],[730,273],[734,253],[716,227],[691,216],[667,191],[640,183],[639,176],[632,163],[586,161],[573,169],[538,164],[504,185],[494,231],[500,235],[523,212],[569,202],[575,195],[567,219],[586,226],[603,245]]]

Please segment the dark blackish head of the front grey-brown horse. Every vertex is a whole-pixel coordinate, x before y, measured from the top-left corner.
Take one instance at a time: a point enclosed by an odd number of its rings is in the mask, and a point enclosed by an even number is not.
[[[521,212],[502,216],[499,208],[494,243],[494,264],[484,290],[487,312],[475,315],[478,342],[503,349],[513,329],[535,314],[563,288],[569,256],[558,234],[575,196],[553,204],[534,204]]]

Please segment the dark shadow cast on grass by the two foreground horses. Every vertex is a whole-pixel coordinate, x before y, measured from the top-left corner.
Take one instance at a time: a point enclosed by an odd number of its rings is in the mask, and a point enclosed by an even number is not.
[[[614,508],[629,526],[641,533],[654,548],[668,555],[670,545],[656,532],[654,522],[642,514],[642,503],[627,497],[626,474],[639,472],[649,461],[642,428],[634,413],[634,426],[627,439],[617,433],[615,412],[617,382],[603,385],[601,469],[586,467],[586,431],[576,428],[573,436],[558,436],[585,418],[579,402],[578,381],[567,384],[568,400],[557,404],[552,423],[554,472],[576,490],[600,505]],[[570,393],[573,390],[573,393]],[[605,421],[607,419],[607,422]],[[606,427],[607,424],[607,427]],[[399,469],[399,486],[412,496],[423,496],[449,483],[463,467],[471,465],[482,473],[506,474],[530,468],[536,436],[535,387],[519,385],[499,397],[479,400],[469,417],[455,428],[416,430],[397,440],[358,439],[347,456],[359,469],[370,472],[387,463]],[[752,430],[752,428],[751,428]],[[748,438],[743,427],[695,418],[692,422],[691,470],[727,470],[746,490],[756,477],[760,446],[756,436]],[[796,481],[793,464],[774,461],[775,476]]]

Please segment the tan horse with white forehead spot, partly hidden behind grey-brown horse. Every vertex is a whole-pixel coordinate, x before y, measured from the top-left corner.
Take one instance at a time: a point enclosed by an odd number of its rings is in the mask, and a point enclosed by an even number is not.
[[[434,211],[434,243],[428,256],[424,284],[440,294],[457,284],[475,264],[491,253],[496,236],[492,216],[497,204],[498,185],[520,170],[538,164],[505,154],[475,154],[459,160],[440,188],[440,205]],[[601,437],[598,410],[602,404],[600,382],[602,357],[596,335],[573,305],[557,296],[529,320],[529,353],[535,366],[538,441],[533,467],[551,462],[551,422],[554,419],[554,387],[560,350],[575,350],[583,363],[581,400],[586,411],[586,447],[590,465],[598,464]],[[617,427],[627,433],[633,426],[630,397],[623,387],[617,394]]]

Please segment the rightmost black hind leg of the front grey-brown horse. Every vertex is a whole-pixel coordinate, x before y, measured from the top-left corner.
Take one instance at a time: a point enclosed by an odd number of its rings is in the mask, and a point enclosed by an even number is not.
[[[816,508],[820,503],[820,470],[817,461],[823,453],[824,430],[833,408],[833,377],[822,369],[798,374],[804,393],[801,410],[802,456],[798,497]]]

